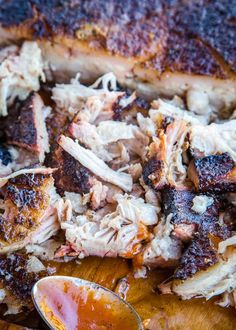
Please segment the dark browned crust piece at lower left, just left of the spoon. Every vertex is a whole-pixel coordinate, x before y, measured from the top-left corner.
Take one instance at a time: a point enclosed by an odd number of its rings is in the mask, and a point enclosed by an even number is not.
[[[47,276],[47,270],[38,273],[27,272],[29,258],[23,254],[0,256],[0,280],[4,287],[15,298],[23,299],[20,304],[31,303],[31,290],[33,285],[42,277]]]

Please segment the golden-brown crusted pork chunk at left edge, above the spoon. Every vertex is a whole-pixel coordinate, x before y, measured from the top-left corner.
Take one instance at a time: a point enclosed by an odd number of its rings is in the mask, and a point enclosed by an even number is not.
[[[59,229],[52,169],[20,170],[1,178],[0,253],[40,243]]]

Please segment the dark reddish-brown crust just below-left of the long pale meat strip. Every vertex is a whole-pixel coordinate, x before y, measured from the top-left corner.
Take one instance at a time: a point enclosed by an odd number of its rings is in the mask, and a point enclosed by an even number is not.
[[[61,147],[57,147],[53,152],[48,165],[58,168],[54,179],[59,194],[64,195],[65,191],[80,194],[89,192],[91,172]]]

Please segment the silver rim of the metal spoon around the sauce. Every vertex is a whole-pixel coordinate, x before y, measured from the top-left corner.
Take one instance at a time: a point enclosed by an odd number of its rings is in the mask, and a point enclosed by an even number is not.
[[[46,285],[54,285],[55,283],[59,283],[59,282],[55,282],[55,281],[63,281],[63,283],[66,283],[67,286],[69,285],[73,285],[76,287],[84,287],[84,288],[88,288],[88,289],[92,289],[95,292],[99,292],[102,293],[103,296],[105,295],[107,298],[111,299],[112,301],[114,301],[122,307],[126,306],[126,308],[128,307],[130,314],[132,315],[132,318],[135,320],[136,323],[136,329],[137,330],[144,330],[142,321],[140,316],[137,314],[137,312],[134,310],[134,308],[128,304],[125,300],[123,300],[122,298],[120,298],[117,294],[115,294],[113,291],[104,288],[103,286],[93,283],[93,282],[89,282],[86,280],[82,280],[80,278],[75,278],[75,277],[71,277],[71,276],[49,276],[49,277],[44,277],[42,279],[40,279],[37,283],[35,283],[35,285],[32,288],[32,299],[34,302],[34,305],[39,313],[39,315],[41,316],[41,318],[44,320],[44,322],[48,325],[48,327],[52,330],[56,330],[59,329],[60,327],[55,327],[51,320],[47,317],[47,315],[45,314],[45,311],[41,308],[40,306],[40,301],[42,301],[42,289],[40,287],[45,286]],[[61,292],[63,293],[64,291],[61,290]],[[77,306],[76,306],[77,307]]]

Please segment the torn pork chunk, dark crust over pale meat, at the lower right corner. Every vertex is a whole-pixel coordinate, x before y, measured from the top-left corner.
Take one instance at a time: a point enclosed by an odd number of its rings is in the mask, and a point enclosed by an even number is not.
[[[236,288],[235,242],[221,251],[211,239],[198,239],[185,252],[177,269],[172,291],[183,299],[211,297],[227,294]]]

